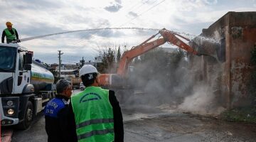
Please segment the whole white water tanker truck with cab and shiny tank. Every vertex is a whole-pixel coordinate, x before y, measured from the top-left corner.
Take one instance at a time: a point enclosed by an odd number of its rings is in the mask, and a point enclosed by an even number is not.
[[[33,117],[55,97],[53,74],[16,43],[0,43],[1,126],[27,129]]]

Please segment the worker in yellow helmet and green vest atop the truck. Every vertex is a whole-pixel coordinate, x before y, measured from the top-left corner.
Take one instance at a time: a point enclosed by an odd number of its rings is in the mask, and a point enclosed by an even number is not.
[[[6,37],[6,43],[11,43],[12,41],[20,42],[18,39],[18,32],[15,28],[13,28],[13,24],[11,22],[6,22],[7,28],[4,29],[1,37],[1,43],[4,43],[4,37]]]

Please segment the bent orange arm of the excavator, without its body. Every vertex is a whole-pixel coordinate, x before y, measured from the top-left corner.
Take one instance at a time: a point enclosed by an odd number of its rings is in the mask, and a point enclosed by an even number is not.
[[[161,34],[161,36],[163,38],[159,38],[159,39],[150,41],[148,43],[149,40],[154,38],[159,33]],[[132,48],[131,50],[124,52],[124,54],[122,55],[122,58],[119,62],[119,67],[117,68],[117,74],[124,77],[124,75],[126,75],[127,67],[129,65],[129,62],[131,62],[132,59],[138,57],[139,55],[142,55],[142,54],[148,52],[149,50],[157,48],[157,47],[159,47],[160,45],[163,45],[166,42],[171,43],[173,45],[176,45],[179,48],[182,48],[183,50],[188,51],[189,53],[193,53],[194,55],[199,55],[196,52],[196,50],[193,50],[193,48],[191,48],[191,46],[187,45],[186,43],[183,42],[183,40],[180,39],[180,38],[183,38],[183,39],[189,41],[188,38],[185,38],[182,35],[179,35],[178,33],[174,33],[172,31],[168,31],[166,29],[160,30],[159,33],[156,33],[156,35],[152,35],[151,38],[145,40],[140,45],[137,45],[136,47]],[[176,35],[179,36],[180,38],[178,38]]]

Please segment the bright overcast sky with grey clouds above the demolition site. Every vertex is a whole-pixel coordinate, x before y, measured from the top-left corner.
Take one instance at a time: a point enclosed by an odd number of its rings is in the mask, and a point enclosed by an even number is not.
[[[228,11],[256,11],[255,0],[0,0],[0,28],[11,21],[20,39],[90,28],[166,28],[198,35]],[[99,47],[139,45],[156,31],[69,33],[20,43],[44,62],[93,60]],[[170,47],[166,44],[164,47]]]

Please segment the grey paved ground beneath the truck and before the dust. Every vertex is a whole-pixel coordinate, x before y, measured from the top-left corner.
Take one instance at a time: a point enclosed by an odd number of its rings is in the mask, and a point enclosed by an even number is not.
[[[79,92],[79,91],[76,91]],[[75,92],[75,93],[76,93]],[[209,117],[183,114],[170,109],[124,105],[124,141],[256,141],[256,125],[225,122]],[[154,111],[145,111],[145,110]],[[43,114],[30,129],[14,131],[12,141],[47,141]]]

